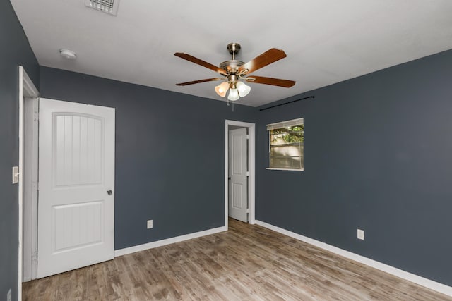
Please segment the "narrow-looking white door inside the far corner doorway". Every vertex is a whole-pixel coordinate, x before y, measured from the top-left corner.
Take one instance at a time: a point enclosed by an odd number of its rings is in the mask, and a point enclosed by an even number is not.
[[[229,216],[248,222],[246,128],[229,131]]]

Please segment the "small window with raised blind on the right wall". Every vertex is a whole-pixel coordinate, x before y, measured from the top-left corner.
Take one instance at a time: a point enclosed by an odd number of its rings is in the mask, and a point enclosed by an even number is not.
[[[304,170],[303,118],[267,125],[270,137],[268,169]]]

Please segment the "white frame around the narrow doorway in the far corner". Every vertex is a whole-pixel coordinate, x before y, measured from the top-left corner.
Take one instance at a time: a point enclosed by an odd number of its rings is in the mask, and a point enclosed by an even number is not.
[[[229,202],[229,125],[241,126],[242,128],[248,128],[248,208],[249,216],[248,222],[253,225],[256,223],[255,216],[255,160],[256,160],[256,124],[247,123],[242,121],[225,120],[225,226],[228,227],[228,202]]]

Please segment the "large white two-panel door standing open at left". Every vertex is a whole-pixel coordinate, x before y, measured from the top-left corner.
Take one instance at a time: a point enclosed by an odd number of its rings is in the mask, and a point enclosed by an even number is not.
[[[40,99],[37,277],[114,257],[114,109]]]

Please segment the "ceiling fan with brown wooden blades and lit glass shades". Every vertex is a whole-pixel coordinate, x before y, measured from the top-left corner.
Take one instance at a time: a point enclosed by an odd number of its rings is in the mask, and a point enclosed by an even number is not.
[[[256,56],[254,59],[249,61],[248,63],[244,63],[243,61],[237,61],[235,56],[240,51],[240,44],[238,43],[230,43],[227,45],[227,50],[232,55],[232,60],[224,61],[220,63],[220,66],[214,66],[211,63],[203,61],[201,59],[197,59],[190,54],[183,54],[182,52],[176,52],[174,55],[179,56],[181,59],[185,59],[187,61],[191,61],[192,63],[197,63],[203,67],[209,68],[215,72],[220,73],[223,78],[206,78],[205,80],[194,80],[191,82],[180,82],[176,84],[178,86],[186,86],[198,84],[200,82],[212,82],[215,80],[225,80],[220,85],[215,87],[215,92],[217,92],[220,97],[225,97],[227,90],[229,90],[229,94],[227,94],[228,101],[236,101],[240,97],[245,97],[250,91],[251,87],[246,85],[246,82],[254,82],[256,84],[264,84],[264,85],[273,85],[278,87],[292,87],[295,85],[295,81],[293,80],[281,80],[279,78],[265,78],[263,76],[249,76],[249,74],[254,71],[263,68],[270,63],[274,63],[275,61],[279,61],[280,59],[284,59],[287,55],[281,49],[268,49],[260,56]],[[241,81],[242,80],[242,81]]]

